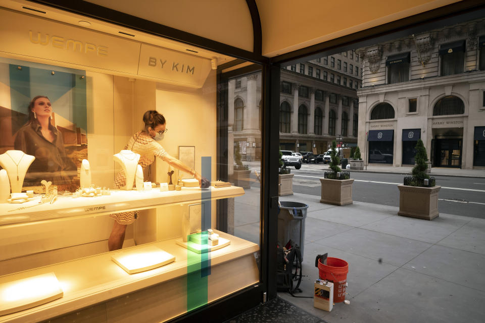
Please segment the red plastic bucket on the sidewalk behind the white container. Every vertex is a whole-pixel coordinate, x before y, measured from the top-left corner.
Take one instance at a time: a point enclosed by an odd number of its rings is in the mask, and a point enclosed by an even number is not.
[[[318,259],[318,276],[333,283],[333,302],[345,301],[345,290],[347,287],[347,273],[349,264],[347,261],[338,258],[327,258],[327,264]]]

